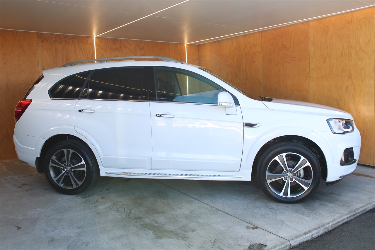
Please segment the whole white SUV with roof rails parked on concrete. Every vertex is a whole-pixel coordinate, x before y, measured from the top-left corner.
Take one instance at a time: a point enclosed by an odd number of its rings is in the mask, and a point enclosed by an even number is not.
[[[135,58],[161,61],[122,60]],[[300,202],[321,178],[333,184],[354,172],[361,145],[345,111],[252,95],[156,56],[45,70],[15,120],[18,158],[64,194],[99,175],[250,181],[256,173],[272,199]]]

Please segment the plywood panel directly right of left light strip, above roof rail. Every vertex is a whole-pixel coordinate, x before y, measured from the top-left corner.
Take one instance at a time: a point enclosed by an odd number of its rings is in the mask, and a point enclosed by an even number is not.
[[[128,39],[95,38],[96,58],[144,56],[144,42]]]

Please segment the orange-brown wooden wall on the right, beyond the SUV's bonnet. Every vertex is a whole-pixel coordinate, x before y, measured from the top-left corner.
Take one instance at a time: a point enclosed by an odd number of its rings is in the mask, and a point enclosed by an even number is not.
[[[199,65],[260,95],[351,113],[375,166],[375,8],[198,45]]]

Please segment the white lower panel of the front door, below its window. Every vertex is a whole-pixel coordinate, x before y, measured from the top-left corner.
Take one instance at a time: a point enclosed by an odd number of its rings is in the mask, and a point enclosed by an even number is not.
[[[217,105],[150,102],[152,169],[238,171],[243,122]],[[174,117],[158,117],[171,114]]]

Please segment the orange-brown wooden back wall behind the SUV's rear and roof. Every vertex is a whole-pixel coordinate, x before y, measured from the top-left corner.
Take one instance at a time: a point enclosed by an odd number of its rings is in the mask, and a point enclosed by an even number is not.
[[[186,61],[184,44],[95,38],[97,58],[166,56]],[[198,46],[187,45],[189,63],[198,64]],[[95,58],[94,38],[0,30],[0,160],[17,158],[14,109],[44,69]]]

